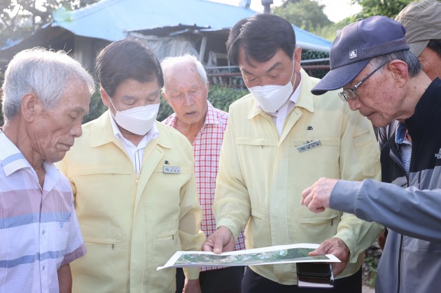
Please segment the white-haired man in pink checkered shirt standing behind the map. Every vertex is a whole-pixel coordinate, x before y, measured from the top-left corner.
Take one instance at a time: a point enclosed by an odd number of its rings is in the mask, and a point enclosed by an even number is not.
[[[198,59],[191,55],[165,58],[163,97],[174,113],[163,121],[174,127],[192,143],[194,171],[203,208],[201,230],[211,235],[216,230],[212,213],[220,146],[227,127],[228,113],[214,108],[207,100],[207,74]],[[243,232],[236,241],[236,250],[245,249]],[[203,293],[240,292],[243,267],[201,268],[199,280]],[[182,292],[183,273],[176,273],[176,292]]]

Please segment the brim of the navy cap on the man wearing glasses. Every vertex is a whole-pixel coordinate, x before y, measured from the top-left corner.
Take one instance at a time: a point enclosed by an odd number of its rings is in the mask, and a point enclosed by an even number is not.
[[[369,61],[371,61],[371,59],[365,59],[336,69],[331,69],[331,71],[323,76],[322,80],[311,89],[311,93],[319,96],[325,94],[327,91],[334,91],[334,89],[344,87],[348,83],[351,83],[353,78],[358,76]]]

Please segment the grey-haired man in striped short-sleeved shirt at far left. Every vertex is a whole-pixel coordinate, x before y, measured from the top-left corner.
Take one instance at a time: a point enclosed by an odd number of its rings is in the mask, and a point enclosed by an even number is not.
[[[81,135],[92,76],[65,52],[20,52],[3,83],[0,127],[0,291],[71,292],[85,254],[72,190],[54,162]]]

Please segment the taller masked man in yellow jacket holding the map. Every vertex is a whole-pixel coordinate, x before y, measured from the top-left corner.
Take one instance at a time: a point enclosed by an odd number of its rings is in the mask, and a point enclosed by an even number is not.
[[[314,254],[334,254],[334,290],[299,288],[296,265],[245,270],[244,293],[361,292],[364,250],[381,226],[300,206],[302,191],[320,177],[380,180],[380,153],[371,122],[336,91],[311,94],[318,83],[300,67],[301,48],[291,24],[272,14],[236,23],[227,41],[251,94],[229,107],[220,151],[214,215],[217,230],[203,250],[232,250],[245,228],[247,249],[319,243]]]

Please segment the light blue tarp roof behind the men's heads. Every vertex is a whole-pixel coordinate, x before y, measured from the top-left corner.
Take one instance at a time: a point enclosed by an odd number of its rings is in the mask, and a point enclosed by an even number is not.
[[[102,0],[85,8],[54,12],[54,22],[79,36],[116,41],[128,32],[192,25],[229,29],[256,14],[254,10],[206,0]],[[329,51],[331,42],[294,26],[298,45]]]

